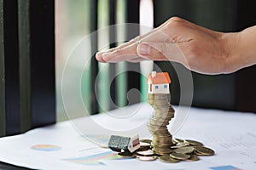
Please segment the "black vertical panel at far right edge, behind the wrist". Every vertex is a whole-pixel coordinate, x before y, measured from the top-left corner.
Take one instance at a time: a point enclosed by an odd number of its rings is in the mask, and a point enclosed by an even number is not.
[[[254,1],[238,0],[237,30],[241,31],[256,25]],[[239,111],[256,112],[256,65],[242,69],[236,73],[236,109]]]

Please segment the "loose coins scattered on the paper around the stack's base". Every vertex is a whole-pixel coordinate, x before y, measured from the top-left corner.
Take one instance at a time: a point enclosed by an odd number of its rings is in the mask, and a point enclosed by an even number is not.
[[[195,140],[173,139],[172,147],[168,148],[171,153],[156,154],[153,141],[150,139],[142,139],[140,141],[141,147],[132,154],[119,153],[119,156],[125,158],[137,158],[139,161],[155,161],[159,159],[166,163],[177,163],[178,161],[198,161],[199,156],[213,156],[214,150],[207,148]]]

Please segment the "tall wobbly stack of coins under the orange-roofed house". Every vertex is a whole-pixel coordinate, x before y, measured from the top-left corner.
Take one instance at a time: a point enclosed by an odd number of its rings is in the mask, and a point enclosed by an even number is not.
[[[152,150],[157,155],[170,154],[173,142],[167,125],[174,117],[174,110],[168,101],[168,94],[148,94],[148,103],[155,111],[148,123],[148,131],[153,135]]]

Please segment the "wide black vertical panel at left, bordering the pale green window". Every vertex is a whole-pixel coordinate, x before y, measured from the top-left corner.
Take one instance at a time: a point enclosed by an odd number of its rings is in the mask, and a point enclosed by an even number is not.
[[[19,0],[21,132],[55,122],[54,1]]]

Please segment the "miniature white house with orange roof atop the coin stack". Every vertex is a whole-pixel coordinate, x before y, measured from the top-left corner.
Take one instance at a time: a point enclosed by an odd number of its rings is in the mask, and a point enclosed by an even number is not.
[[[171,79],[167,72],[152,71],[148,75],[148,94],[170,94]]]

